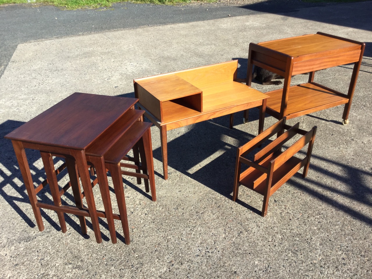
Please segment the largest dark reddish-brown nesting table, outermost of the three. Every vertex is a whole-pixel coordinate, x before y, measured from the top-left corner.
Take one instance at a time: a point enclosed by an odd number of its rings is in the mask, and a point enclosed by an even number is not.
[[[98,217],[106,217],[105,214],[112,215],[112,211],[104,213],[96,210],[86,156],[90,155],[100,158],[103,154],[89,154],[86,153],[86,150],[89,150],[89,147],[94,145],[96,139],[102,138],[105,133],[107,134],[106,137],[112,140],[110,138],[110,133],[112,132],[110,132],[110,127],[121,121],[130,110],[134,109],[134,104],[137,101],[138,99],[135,98],[73,93],[4,137],[12,140],[23,181],[40,231],[44,230],[40,208],[53,209],[57,212],[60,219],[62,232],[66,231],[64,212],[90,217],[96,241],[98,243],[102,242]],[[40,150],[42,154],[56,154],[61,155],[61,157],[73,158],[80,175],[88,210],[61,206],[58,185],[50,185],[51,181],[49,181],[49,186],[51,186],[54,205],[38,202],[36,193],[40,189],[35,188],[33,185],[25,148]],[[102,158],[96,161],[98,165],[95,167],[106,170],[105,162]],[[99,162],[102,162],[102,165]],[[54,171],[52,160],[43,160],[43,163],[46,170]],[[109,191],[108,189],[106,190],[106,195],[108,196],[102,198],[110,199]]]

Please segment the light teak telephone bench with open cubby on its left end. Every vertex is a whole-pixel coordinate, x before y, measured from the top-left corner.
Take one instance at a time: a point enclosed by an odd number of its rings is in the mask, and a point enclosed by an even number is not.
[[[237,68],[238,61],[232,60],[133,81],[135,97],[140,99],[137,105],[160,129],[164,179],[168,178],[167,131],[171,129],[259,107],[262,132],[268,96],[236,82]]]

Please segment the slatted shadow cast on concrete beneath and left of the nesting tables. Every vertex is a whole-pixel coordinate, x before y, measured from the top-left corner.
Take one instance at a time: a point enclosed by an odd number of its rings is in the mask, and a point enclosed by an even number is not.
[[[18,128],[19,126],[23,125],[25,122],[20,122],[20,121],[12,121],[8,120],[4,122],[3,124],[0,125],[0,145],[2,148],[2,156],[1,156],[1,161],[0,164],[2,165],[0,168],[0,195],[4,198],[4,200],[9,203],[10,206],[17,212],[17,214],[26,222],[27,225],[31,228],[35,228],[35,222],[33,214],[31,216],[28,216],[17,204],[22,202],[22,203],[30,203],[29,198],[27,195],[26,188],[23,184],[23,178],[22,174],[20,173],[19,166],[17,163],[16,156],[14,154],[12,142],[10,140],[4,139],[4,136],[8,134],[9,132],[13,131],[14,129]],[[29,150],[26,149],[26,155],[28,158],[28,164],[31,170],[31,176],[32,180],[34,182],[34,185],[37,186],[40,183],[42,183],[45,179],[45,172],[44,168],[40,168],[42,166],[41,163],[41,155],[40,152],[37,150]],[[54,164],[55,166],[60,166],[64,161],[62,158],[54,158]],[[40,165],[41,164],[41,165]],[[59,179],[59,186],[60,189],[65,186],[61,185],[60,183],[60,177],[64,177],[68,175],[67,170],[63,170],[60,174],[58,174],[58,179]],[[92,177],[93,179],[93,177]],[[22,185],[19,186],[19,181],[22,182]],[[68,180],[66,180],[68,182]],[[125,181],[126,185],[130,187],[136,187],[129,183],[128,181]],[[66,182],[65,182],[66,183]],[[111,189],[113,191],[113,189]],[[147,195],[147,194],[145,194]],[[36,194],[38,201],[43,202],[43,203],[48,203],[48,204],[53,204],[52,196],[49,193],[49,186],[46,185],[40,192]],[[62,205],[74,205],[74,196],[70,192],[65,192],[62,198]],[[30,209],[31,209],[31,205]],[[86,206],[86,205],[85,205]],[[41,211],[41,216],[44,219],[43,221],[47,221],[55,230],[60,231],[61,227],[59,224],[57,224],[49,215],[47,211],[45,212],[44,209],[40,209]],[[30,214],[29,214],[30,215]],[[80,225],[74,221],[68,214],[64,214],[65,221],[67,224],[69,224],[75,231],[77,231],[83,238],[90,238],[89,235],[83,235],[81,234],[81,229]],[[93,230],[92,223],[86,220],[87,226]],[[107,231],[109,231],[108,225],[103,219],[99,218],[99,224],[102,225]],[[105,235],[101,231],[102,235],[102,240],[103,241],[109,241],[109,237]],[[123,243],[124,237],[119,234],[116,231],[116,236],[118,237],[119,240],[121,240]]]

